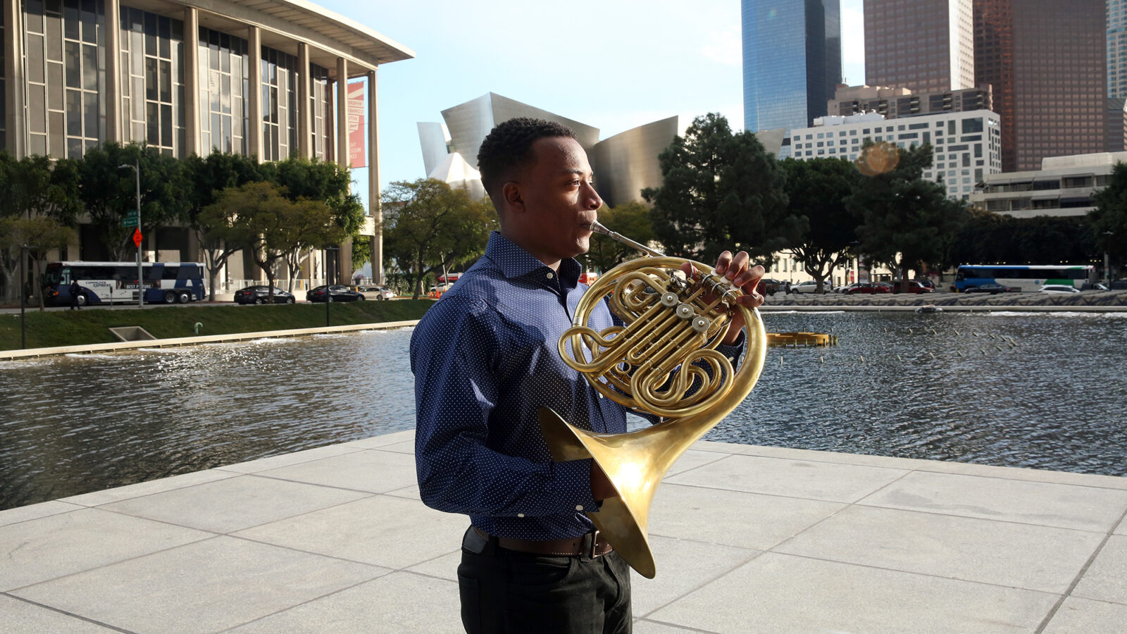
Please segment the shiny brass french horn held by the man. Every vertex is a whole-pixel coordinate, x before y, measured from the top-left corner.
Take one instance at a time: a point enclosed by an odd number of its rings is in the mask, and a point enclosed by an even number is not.
[[[629,433],[595,433],[541,407],[540,426],[553,460],[593,458],[606,474],[619,495],[588,517],[631,567],[653,579],[657,569],[647,527],[657,485],[751,393],[763,370],[766,334],[758,310],[737,303],[739,289],[711,266],[667,257],[598,222],[593,230],[647,255],[615,266],[587,289],[559,340],[560,356],[602,396],[660,422]],[[686,279],[684,262],[698,274]],[[624,325],[595,332],[586,324],[604,299]],[[737,310],[747,343],[734,371],[716,349]]]

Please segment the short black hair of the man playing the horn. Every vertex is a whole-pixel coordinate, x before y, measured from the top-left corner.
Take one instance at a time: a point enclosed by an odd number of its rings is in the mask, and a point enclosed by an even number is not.
[[[513,174],[532,164],[535,158],[532,143],[538,139],[560,137],[575,139],[575,132],[553,121],[526,116],[511,118],[494,127],[478,150],[478,170],[489,197],[496,201],[502,186],[512,180]]]

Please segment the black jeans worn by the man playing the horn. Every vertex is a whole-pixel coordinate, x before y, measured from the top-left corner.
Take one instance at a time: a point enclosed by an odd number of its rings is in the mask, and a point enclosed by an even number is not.
[[[472,528],[458,566],[469,634],[629,634],[630,566],[618,553],[554,557],[517,553]]]

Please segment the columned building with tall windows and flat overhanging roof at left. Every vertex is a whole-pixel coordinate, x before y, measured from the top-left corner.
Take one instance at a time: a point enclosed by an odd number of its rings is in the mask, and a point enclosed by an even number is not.
[[[345,85],[366,80],[369,201],[379,214],[376,70],[414,52],[375,30],[305,0],[3,0],[0,24],[0,147],[16,157],[143,142],[175,157],[347,167]],[[166,250],[159,239],[147,237],[144,249]],[[340,254],[348,274],[350,250]]]

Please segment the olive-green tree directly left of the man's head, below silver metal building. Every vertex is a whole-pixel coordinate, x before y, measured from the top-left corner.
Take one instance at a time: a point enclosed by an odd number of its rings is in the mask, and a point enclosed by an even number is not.
[[[489,199],[471,201],[464,188],[434,178],[392,183],[383,193],[383,248],[410,279],[414,297],[423,280],[485,253],[497,212]]]

